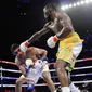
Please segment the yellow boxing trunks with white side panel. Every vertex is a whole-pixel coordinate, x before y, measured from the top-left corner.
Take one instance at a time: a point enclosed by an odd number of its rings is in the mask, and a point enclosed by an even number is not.
[[[67,70],[74,69],[76,58],[82,50],[83,39],[80,39],[77,32],[70,32],[63,40],[60,41],[58,51],[56,53],[57,60],[63,60],[69,64]]]

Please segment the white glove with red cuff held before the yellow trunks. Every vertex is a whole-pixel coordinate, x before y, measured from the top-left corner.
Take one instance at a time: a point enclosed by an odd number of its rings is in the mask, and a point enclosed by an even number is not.
[[[48,47],[54,48],[57,41],[58,41],[58,38],[56,36],[51,36],[47,41]]]

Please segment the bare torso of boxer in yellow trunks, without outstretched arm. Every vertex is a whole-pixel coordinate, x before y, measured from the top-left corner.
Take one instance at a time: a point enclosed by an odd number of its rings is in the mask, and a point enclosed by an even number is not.
[[[56,18],[54,19],[54,22],[51,22],[50,26],[53,28],[52,31],[55,35],[61,32],[64,26],[68,26],[71,29],[71,31],[75,31],[71,19],[64,12],[62,12],[62,13],[57,12]],[[65,31],[64,35],[65,34],[67,35],[67,31]],[[63,38],[63,36],[60,37],[60,39],[62,39],[62,38]]]

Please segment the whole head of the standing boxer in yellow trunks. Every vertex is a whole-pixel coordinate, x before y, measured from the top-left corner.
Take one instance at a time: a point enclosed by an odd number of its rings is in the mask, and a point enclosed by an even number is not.
[[[43,9],[43,13],[48,22],[54,21],[56,15],[56,8],[53,4],[48,4]]]

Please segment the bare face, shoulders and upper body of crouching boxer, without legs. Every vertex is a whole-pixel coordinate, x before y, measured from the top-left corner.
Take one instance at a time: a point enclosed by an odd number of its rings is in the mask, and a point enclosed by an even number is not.
[[[35,63],[40,56],[47,56],[47,51],[43,49],[31,47],[27,49],[26,53],[19,51],[15,57],[15,63],[18,67],[25,66],[26,58],[31,58]]]

